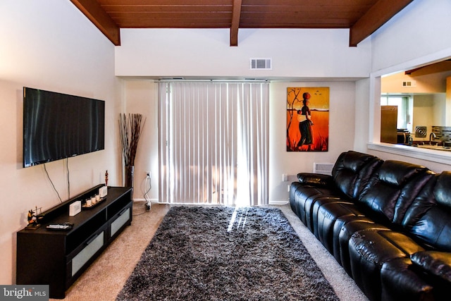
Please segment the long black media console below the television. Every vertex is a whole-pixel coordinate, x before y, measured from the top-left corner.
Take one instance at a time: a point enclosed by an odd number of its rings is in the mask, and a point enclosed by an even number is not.
[[[17,233],[17,284],[47,284],[51,298],[63,299],[66,290],[99,254],[132,222],[131,188],[109,187],[95,207],[69,216],[69,205],[97,195],[98,185],[45,211],[36,230]],[[71,223],[67,231],[49,224]]]

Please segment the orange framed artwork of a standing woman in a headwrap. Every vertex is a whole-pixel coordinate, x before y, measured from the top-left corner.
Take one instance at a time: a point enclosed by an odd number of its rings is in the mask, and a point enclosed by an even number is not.
[[[287,151],[328,152],[329,87],[287,88]]]

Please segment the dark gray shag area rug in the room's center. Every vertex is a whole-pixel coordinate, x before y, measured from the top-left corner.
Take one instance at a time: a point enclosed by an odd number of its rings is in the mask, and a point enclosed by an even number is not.
[[[171,207],[117,300],[339,300],[282,211]]]

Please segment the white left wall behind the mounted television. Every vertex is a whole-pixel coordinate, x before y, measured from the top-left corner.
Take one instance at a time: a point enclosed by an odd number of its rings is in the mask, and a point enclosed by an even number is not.
[[[59,203],[42,165],[22,167],[22,87],[106,101],[105,149],[68,160],[74,196],[103,182],[106,169],[109,183],[118,183],[121,86],[114,76],[113,45],[70,1],[2,0],[0,40],[0,283],[11,284],[16,231],[27,225],[27,211]],[[47,170],[67,199],[65,160],[47,164]]]

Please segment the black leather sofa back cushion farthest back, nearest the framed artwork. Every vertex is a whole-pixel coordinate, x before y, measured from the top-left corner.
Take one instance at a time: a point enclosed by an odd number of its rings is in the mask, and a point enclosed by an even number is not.
[[[382,164],[383,160],[371,154],[360,152],[343,152],[333,166],[332,176],[338,189],[354,201],[366,186],[371,174]]]

